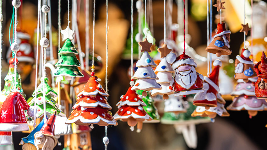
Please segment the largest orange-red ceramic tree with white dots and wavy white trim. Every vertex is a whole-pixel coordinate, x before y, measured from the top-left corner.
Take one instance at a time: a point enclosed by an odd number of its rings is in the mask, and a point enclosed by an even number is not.
[[[111,106],[107,103],[107,96],[109,95],[99,84],[97,77],[90,77],[83,90],[78,94],[77,102],[72,107],[74,110],[68,117],[66,124],[117,126],[117,121],[109,111]],[[91,127],[93,128],[93,126]]]

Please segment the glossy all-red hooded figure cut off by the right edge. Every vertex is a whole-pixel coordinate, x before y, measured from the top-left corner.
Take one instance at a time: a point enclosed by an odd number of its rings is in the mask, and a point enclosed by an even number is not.
[[[258,99],[265,99],[267,102],[267,58],[264,51],[260,62],[254,66],[254,71],[258,76],[258,80],[255,82],[255,95]]]

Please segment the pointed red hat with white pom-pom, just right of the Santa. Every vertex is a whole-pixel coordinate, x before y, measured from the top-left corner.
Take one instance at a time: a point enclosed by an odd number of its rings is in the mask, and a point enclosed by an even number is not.
[[[209,77],[204,77],[204,81],[209,83],[213,88],[215,88],[216,91],[220,91],[220,88],[219,88],[219,70],[220,70],[220,67],[221,67],[222,63],[219,59],[216,59],[214,62],[213,62],[213,70],[212,72],[210,72],[209,74]]]

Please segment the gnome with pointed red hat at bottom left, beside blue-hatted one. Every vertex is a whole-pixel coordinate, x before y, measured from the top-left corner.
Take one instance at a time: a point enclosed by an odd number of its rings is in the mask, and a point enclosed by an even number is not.
[[[56,116],[57,111],[49,117],[40,131],[34,133],[34,145],[37,150],[53,150],[57,145],[54,134]]]

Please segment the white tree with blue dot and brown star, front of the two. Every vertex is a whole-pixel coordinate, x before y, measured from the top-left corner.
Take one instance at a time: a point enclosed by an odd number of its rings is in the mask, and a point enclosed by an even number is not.
[[[136,62],[136,67],[138,69],[134,73],[132,78],[137,79],[134,86],[131,88],[132,90],[144,90],[142,96],[147,96],[146,91],[150,91],[152,89],[162,89],[161,85],[156,82],[156,79],[159,79],[153,68],[156,67],[155,62],[149,55],[151,52],[150,47],[152,43],[149,43],[147,39],[142,42],[139,42],[139,46],[141,46],[141,52],[144,52],[141,56],[140,60]]]

